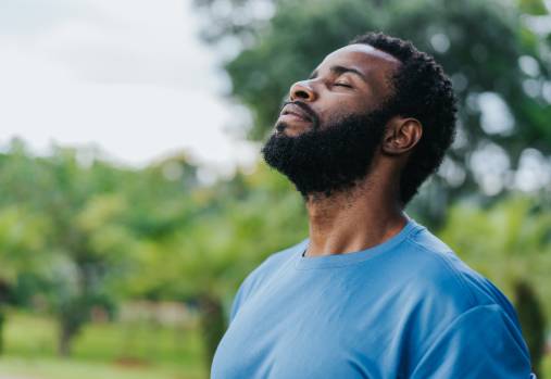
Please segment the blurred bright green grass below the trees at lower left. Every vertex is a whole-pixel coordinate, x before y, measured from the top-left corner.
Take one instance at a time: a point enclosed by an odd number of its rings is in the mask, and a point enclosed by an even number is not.
[[[8,315],[0,372],[25,379],[206,378],[196,328],[151,323],[88,325],[74,340],[71,358],[61,358],[54,321],[21,312]]]

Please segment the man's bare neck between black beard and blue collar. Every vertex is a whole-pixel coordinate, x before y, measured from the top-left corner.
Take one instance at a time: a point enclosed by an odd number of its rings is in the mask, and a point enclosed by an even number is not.
[[[381,182],[388,177],[373,173],[350,190],[329,197],[309,194],[310,244],[304,255],[365,250],[397,235],[406,217],[398,201],[398,182]]]

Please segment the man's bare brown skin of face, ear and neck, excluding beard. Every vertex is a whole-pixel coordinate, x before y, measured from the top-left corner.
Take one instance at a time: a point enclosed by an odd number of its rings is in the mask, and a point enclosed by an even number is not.
[[[392,93],[389,78],[400,64],[371,46],[350,45],[328,54],[309,79],[293,84],[289,97],[306,104],[318,116],[323,129],[331,117],[371,111],[381,104]],[[295,114],[281,115],[278,121],[288,125],[280,132],[291,137],[312,127],[310,121]],[[399,199],[400,173],[422,132],[417,119],[393,116],[364,179],[351,190],[330,197],[308,195],[310,245],[305,256],[365,250],[385,242],[405,226]]]

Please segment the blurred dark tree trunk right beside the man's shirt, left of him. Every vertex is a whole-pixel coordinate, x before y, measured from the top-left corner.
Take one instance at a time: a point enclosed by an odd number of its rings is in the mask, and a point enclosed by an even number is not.
[[[214,353],[226,330],[226,319],[221,300],[210,293],[202,294],[199,298],[199,314],[205,349],[205,364],[210,375]]]

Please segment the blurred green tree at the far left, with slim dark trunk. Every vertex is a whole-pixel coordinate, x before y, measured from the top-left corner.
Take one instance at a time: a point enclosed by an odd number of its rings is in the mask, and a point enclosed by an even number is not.
[[[93,157],[83,161],[84,153],[58,148],[50,157],[34,157],[14,141],[0,160],[0,258],[5,262],[0,278],[39,289],[15,293],[47,302],[59,320],[62,354],[70,353],[93,307],[114,308],[140,247],[138,236],[159,233],[166,228],[161,217],[178,212],[159,210],[159,198],[171,197],[174,188],[180,197],[170,201],[184,198],[179,184],[160,178],[159,167],[138,173]]]

